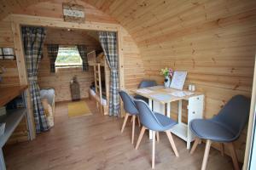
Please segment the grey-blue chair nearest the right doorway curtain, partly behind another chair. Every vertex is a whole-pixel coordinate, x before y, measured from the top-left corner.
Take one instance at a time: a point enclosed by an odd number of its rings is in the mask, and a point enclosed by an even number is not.
[[[124,132],[125,124],[127,122],[128,117],[131,116],[131,122],[132,122],[131,144],[133,144],[136,117],[137,117],[138,123],[140,125],[140,121],[138,118],[138,111],[137,111],[136,105],[134,103],[134,99],[129,94],[127,94],[125,91],[121,90],[121,91],[119,91],[119,95],[121,96],[121,98],[124,102],[124,108],[125,108],[125,112],[126,112],[125,121],[123,123],[121,133]]]

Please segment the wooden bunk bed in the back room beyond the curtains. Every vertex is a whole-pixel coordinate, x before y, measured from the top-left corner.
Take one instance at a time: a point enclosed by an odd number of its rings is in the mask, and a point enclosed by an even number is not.
[[[90,86],[90,99],[96,100],[97,108],[104,115],[108,115],[109,77],[110,70],[103,53],[96,55],[96,51],[87,54],[89,66],[93,66],[94,82]]]

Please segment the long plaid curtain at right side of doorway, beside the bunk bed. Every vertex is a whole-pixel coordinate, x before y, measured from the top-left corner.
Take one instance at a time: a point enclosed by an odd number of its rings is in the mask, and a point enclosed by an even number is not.
[[[98,32],[110,68],[109,116],[119,116],[119,56],[115,32]]]

